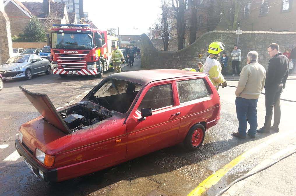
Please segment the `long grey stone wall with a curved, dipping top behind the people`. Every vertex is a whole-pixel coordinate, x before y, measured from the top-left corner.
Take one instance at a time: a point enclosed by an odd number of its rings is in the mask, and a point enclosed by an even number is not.
[[[232,71],[231,51],[237,41],[235,31],[210,31],[198,38],[193,44],[180,51],[159,51],[153,46],[146,34],[141,35],[141,67],[148,69],[182,69],[197,67],[197,62],[205,62],[208,56],[207,49],[211,42],[221,41],[225,44],[226,55],[229,56],[228,72]],[[242,50],[242,62],[240,67],[246,65],[246,56],[249,51],[259,53],[259,63],[266,69],[270,56],[267,46],[270,43],[278,43],[280,50],[294,48],[296,46],[296,32],[265,32],[243,31],[239,36],[239,48]]]

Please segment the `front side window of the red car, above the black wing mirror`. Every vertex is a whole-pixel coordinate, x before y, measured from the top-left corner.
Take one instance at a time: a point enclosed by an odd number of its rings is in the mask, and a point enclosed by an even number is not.
[[[141,108],[152,108],[152,110],[155,110],[173,105],[173,88],[170,83],[151,87],[141,101],[138,110],[141,111]]]

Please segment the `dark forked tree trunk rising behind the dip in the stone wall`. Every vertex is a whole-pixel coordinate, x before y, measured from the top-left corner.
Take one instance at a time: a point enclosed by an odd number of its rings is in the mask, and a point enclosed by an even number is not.
[[[186,0],[172,0],[172,7],[174,9],[174,17],[177,20],[177,34],[178,34],[178,50],[184,48],[185,22],[184,13],[186,8]]]

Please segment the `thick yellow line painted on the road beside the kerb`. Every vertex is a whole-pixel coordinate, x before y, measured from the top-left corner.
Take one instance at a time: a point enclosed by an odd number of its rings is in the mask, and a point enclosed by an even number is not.
[[[262,148],[266,147],[267,145],[271,144],[272,142],[278,141],[281,137],[284,137],[288,134],[291,134],[293,131],[285,132],[281,135],[275,135],[275,137],[271,138],[270,140],[267,140],[265,142],[262,142],[261,144],[251,148],[250,150],[247,150],[246,152],[239,155],[237,158],[233,159],[229,163],[227,163],[223,168],[216,171],[214,174],[210,175],[202,181],[193,191],[191,191],[187,196],[199,196],[202,195],[207,189],[212,187],[213,185],[217,184],[219,180],[234,166],[236,166],[238,163],[246,159],[248,156],[252,155],[253,153],[258,152]]]

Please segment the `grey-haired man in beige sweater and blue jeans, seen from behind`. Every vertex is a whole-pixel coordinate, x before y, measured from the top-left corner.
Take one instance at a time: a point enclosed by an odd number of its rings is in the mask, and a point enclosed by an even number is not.
[[[232,132],[233,136],[246,138],[246,134],[248,134],[255,138],[258,126],[257,102],[265,85],[265,77],[266,70],[258,63],[258,52],[250,51],[247,55],[247,65],[242,69],[235,91],[239,130]],[[248,132],[247,122],[250,124]]]

